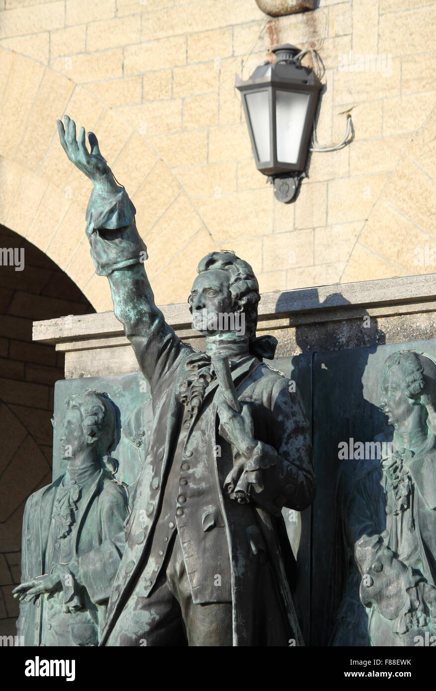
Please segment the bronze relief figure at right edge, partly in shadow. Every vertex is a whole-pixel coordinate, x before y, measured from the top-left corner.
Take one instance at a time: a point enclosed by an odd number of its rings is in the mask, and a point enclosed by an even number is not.
[[[345,461],[339,477],[354,563],[333,645],[436,643],[435,392],[432,359],[413,351],[386,359],[381,408],[392,444],[378,461]]]

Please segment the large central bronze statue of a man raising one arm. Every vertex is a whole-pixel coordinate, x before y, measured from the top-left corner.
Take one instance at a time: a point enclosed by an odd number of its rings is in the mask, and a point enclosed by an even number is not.
[[[289,380],[261,361],[276,339],[256,338],[252,268],[227,251],[200,261],[189,305],[206,352],[182,343],[154,303],[135,207],[95,135],[89,152],[84,129],[77,139],[64,120],[61,144],[94,184],[86,234],[96,271],[153,399],[102,645],[302,645],[281,510],[312,502],[310,438]]]

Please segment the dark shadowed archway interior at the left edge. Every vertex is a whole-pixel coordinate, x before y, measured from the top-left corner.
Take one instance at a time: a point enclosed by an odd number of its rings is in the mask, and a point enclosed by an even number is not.
[[[23,509],[51,482],[53,392],[64,378],[64,354],[32,343],[32,321],[95,310],[48,256],[4,226],[0,260],[0,635],[15,635]]]

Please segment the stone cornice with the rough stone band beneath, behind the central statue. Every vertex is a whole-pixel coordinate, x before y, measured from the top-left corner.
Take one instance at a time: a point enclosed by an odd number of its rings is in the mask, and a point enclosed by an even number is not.
[[[205,350],[205,339],[193,330],[186,303],[160,309],[184,342]],[[264,293],[257,334],[276,337],[277,357],[432,340],[436,274]],[[66,379],[138,371],[131,344],[113,312],[37,321],[33,339],[56,345],[65,354]]]

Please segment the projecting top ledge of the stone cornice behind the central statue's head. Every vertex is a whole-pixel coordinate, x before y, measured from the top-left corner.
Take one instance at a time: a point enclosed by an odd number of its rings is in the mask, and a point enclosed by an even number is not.
[[[292,318],[301,314],[310,321],[323,321],[328,312],[343,312],[350,308],[401,305],[436,301],[436,274],[381,278],[359,283],[334,283],[299,290],[263,293],[259,303],[259,322]],[[187,303],[162,305],[165,319],[175,329],[190,329],[191,315]],[[122,325],[113,312],[97,312],[80,316],[35,321],[33,340],[41,343],[61,343],[75,339],[95,339],[124,335]]]

